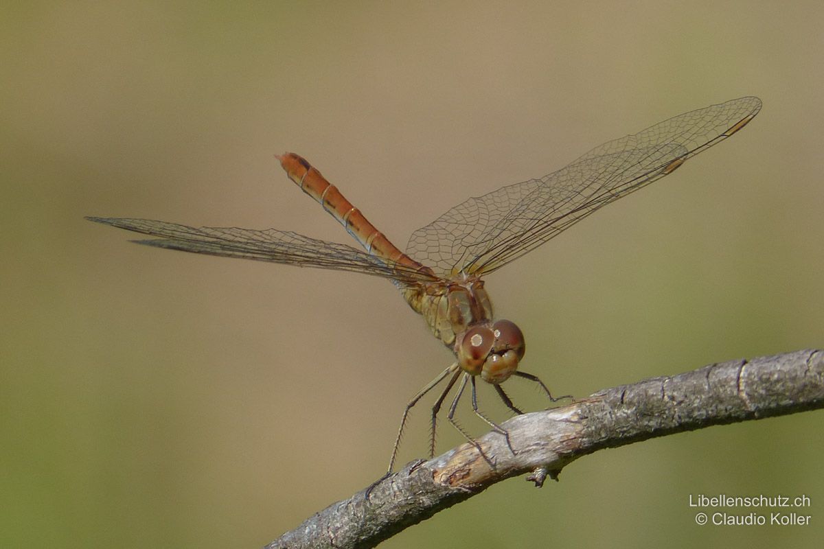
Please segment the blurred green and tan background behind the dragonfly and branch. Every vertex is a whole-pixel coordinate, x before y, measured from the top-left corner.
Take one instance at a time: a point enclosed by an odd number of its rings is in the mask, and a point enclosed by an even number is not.
[[[523,369],[558,393],[824,346],[822,2],[0,15],[0,547],[259,547],[382,474],[404,403],[451,360],[390,284],[138,247],[82,219],[349,243],[286,179],[284,150],[403,247],[468,196],[759,95],[733,139],[487,287],[527,334]],[[528,385],[511,393],[543,405]],[[383,547],[813,547],[821,413],[599,452]],[[404,462],[425,453],[425,416]],[[446,422],[440,440],[460,441]],[[697,526],[689,496],[720,493],[808,495],[812,524]]]

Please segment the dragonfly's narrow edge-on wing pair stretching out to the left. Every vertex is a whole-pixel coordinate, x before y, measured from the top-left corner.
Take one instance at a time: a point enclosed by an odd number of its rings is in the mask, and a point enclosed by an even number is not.
[[[87,219],[121,229],[133,230],[144,235],[159,236],[161,238],[157,240],[134,240],[138,244],[157,248],[179,249],[194,254],[218,255],[226,258],[285,263],[298,267],[363,272],[376,277],[389,278],[401,284],[434,280],[424,272],[413,271],[402,265],[386,264],[346,244],[317,240],[286,230],[190,227],[166,221],[118,217],[87,217]]]

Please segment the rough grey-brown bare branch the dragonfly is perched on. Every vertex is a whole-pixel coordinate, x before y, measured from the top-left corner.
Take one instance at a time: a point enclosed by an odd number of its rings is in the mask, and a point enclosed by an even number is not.
[[[607,388],[494,431],[400,472],[323,509],[284,533],[275,547],[374,547],[495,482],[531,472],[541,486],[561,468],[599,449],[685,430],[782,416],[824,407],[824,351],[806,350],[713,364],[673,377]],[[367,497],[368,493],[368,497]]]

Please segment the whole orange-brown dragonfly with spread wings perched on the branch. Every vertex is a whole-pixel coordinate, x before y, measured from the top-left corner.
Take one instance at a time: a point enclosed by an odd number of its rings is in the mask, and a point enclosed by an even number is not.
[[[552,401],[558,399],[536,375],[518,370],[526,351],[523,333],[515,323],[495,319],[483,277],[545,244],[592,212],[672,174],[692,156],[737,133],[760,109],[757,97],[741,97],[606,142],[544,177],[468,198],[415,230],[405,252],[377,230],[319,170],[291,152],[276,156],[289,179],[319,202],[363,249],[289,230],[193,227],[135,218],[87,219],[155,237],[135,241],[157,248],[388,279],[411,308],[423,316],[433,335],[454,353],[455,361],[407,402],[387,474],[395,466],[411,409],[444,379],[447,383],[431,410],[429,457],[435,452],[438,414],[458,384],[447,419],[489,462],[480,445],[455,420],[457,404],[467,385],[475,414],[506,435],[507,442],[506,430],[480,411],[478,377],[491,384],[515,414],[523,412],[501,386],[510,377],[527,379]]]

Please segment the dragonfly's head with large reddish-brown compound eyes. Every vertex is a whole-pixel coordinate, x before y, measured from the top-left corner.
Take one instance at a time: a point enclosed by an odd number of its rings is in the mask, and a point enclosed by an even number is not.
[[[466,330],[456,351],[462,370],[497,385],[515,373],[526,344],[521,328],[508,320],[499,320],[475,324]]]

